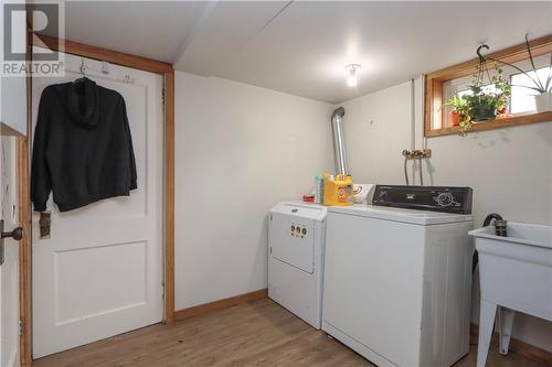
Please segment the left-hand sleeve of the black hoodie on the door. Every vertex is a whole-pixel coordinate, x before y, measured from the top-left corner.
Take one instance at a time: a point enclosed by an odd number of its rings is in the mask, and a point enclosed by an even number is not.
[[[33,156],[31,165],[31,199],[34,211],[44,212],[46,201],[52,190],[52,180],[46,162],[47,136],[49,136],[49,110],[51,108],[50,90],[42,93],[39,104],[39,116],[34,130]]]

